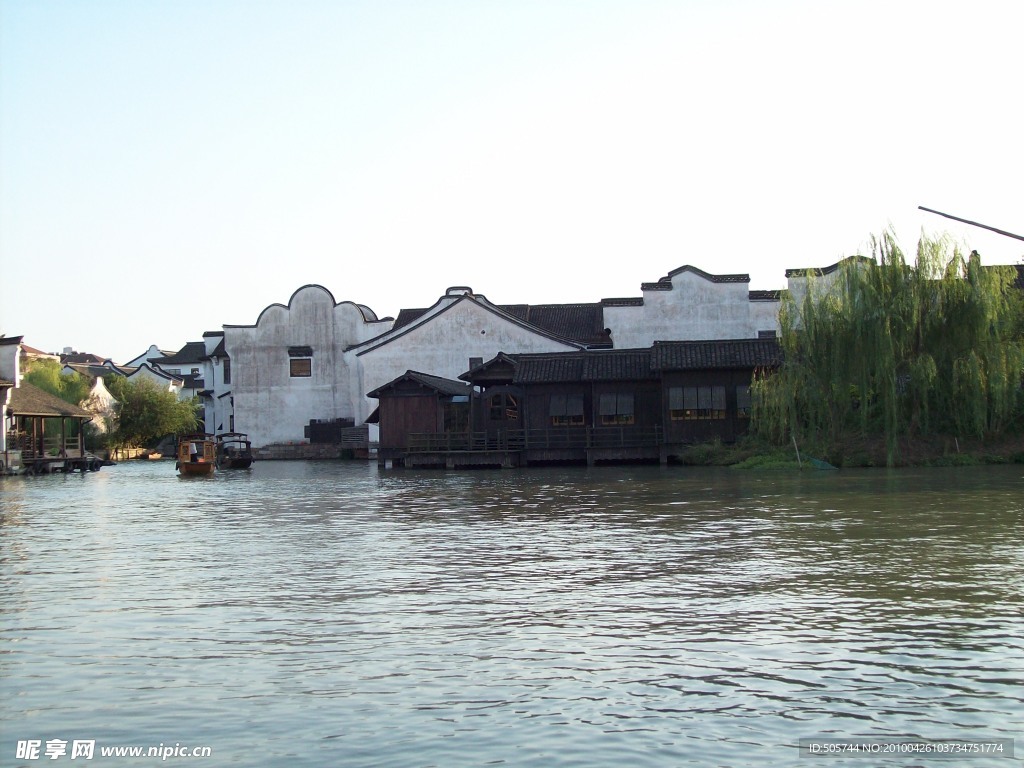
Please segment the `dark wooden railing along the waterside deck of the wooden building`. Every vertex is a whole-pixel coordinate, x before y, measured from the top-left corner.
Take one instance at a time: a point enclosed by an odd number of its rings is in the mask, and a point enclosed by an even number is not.
[[[660,445],[662,427],[566,427],[563,429],[508,429],[486,432],[413,432],[410,453],[467,451],[586,451]]]

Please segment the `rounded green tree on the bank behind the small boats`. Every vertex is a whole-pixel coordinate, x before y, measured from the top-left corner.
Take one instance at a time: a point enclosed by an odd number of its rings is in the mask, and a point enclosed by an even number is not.
[[[112,377],[108,384],[117,399],[117,429],[111,436],[116,445],[145,445],[170,434],[195,431],[199,402],[179,400],[174,392],[150,379],[129,382]]]

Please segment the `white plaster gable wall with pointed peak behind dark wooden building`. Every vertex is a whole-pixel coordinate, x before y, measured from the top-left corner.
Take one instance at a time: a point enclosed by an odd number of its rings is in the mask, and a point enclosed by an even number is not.
[[[447,304],[445,304],[447,306]],[[569,344],[534,333],[470,300],[456,300],[447,311],[434,312],[429,323],[420,323],[408,333],[400,329],[387,344],[356,355],[360,378],[358,392],[366,393],[401,376],[419,371],[457,379],[469,370],[470,357],[488,360],[499,352],[565,352]],[[360,397],[358,420],[377,407],[377,400]]]

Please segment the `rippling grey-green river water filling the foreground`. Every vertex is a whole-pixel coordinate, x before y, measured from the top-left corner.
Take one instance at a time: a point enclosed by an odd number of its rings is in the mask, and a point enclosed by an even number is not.
[[[1019,466],[6,478],[0,765],[933,765],[798,743],[1021,735],[1022,535]]]

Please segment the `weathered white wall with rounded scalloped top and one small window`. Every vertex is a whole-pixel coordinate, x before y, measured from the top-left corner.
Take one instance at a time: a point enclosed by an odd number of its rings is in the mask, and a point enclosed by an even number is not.
[[[288,307],[267,307],[255,327],[224,326],[236,430],[261,446],[306,439],[310,419],[358,423],[365,415],[356,406],[357,374],[344,350],[381,330],[381,323],[368,323],[354,304],[335,305],[321,286],[300,289]],[[290,346],[312,347],[309,378],[289,375]]]

